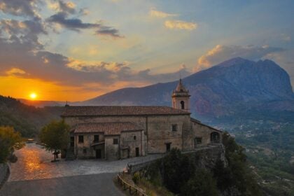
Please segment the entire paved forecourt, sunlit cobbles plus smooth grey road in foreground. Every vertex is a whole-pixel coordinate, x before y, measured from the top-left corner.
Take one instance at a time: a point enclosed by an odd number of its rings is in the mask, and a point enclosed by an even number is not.
[[[0,195],[122,195],[113,185],[113,177],[123,171],[128,162],[159,157],[51,162],[52,153],[36,144],[27,144],[15,155],[18,162],[10,165],[11,174]]]

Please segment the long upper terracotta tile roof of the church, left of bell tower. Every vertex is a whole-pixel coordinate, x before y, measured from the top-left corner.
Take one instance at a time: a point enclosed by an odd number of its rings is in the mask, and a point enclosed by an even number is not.
[[[190,113],[168,106],[67,106],[61,116],[146,116],[179,114]]]

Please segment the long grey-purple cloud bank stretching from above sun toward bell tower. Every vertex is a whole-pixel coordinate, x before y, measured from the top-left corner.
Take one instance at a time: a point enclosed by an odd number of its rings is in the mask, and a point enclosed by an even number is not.
[[[68,57],[48,51],[34,52],[34,45],[29,43],[7,41],[0,38],[0,74],[6,75],[11,69],[21,69],[27,74],[19,74],[23,78],[39,78],[62,85],[84,85],[100,83],[112,85],[120,81],[165,82],[179,78],[176,73],[152,74],[150,70],[134,71],[125,62],[83,62],[72,66]],[[18,58],[15,58],[18,56]],[[182,76],[188,73],[181,69]]]

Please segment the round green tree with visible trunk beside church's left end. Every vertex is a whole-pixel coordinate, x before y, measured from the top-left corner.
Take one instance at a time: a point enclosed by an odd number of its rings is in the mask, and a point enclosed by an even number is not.
[[[54,161],[56,161],[57,153],[66,149],[69,144],[69,125],[64,123],[64,120],[53,120],[43,127],[39,139],[45,144],[47,151],[53,152]]]

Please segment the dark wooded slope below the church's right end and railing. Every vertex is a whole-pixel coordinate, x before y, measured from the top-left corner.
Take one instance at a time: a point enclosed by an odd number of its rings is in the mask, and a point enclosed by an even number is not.
[[[152,184],[153,190],[169,190],[165,195],[263,195],[248,165],[244,148],[226,132],[223,144],[227,164],[220,158],[214,165],[203,167],[203,160],[197,155],[182,154],[174,148],[162,160],[135,173],[133,181],[141,188]]]

